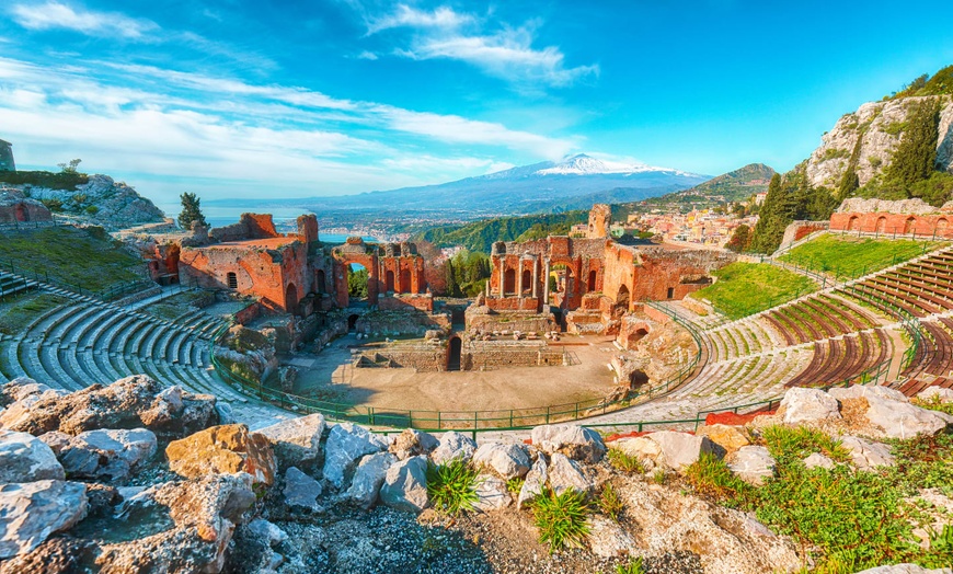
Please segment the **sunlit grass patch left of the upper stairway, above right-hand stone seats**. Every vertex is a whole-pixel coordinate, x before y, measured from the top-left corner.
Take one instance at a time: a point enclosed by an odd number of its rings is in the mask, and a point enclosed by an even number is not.
[[[717,280],[691,296],[733,320],[817,290],[810,278],[767,263],[732,263],[712,275]]]

